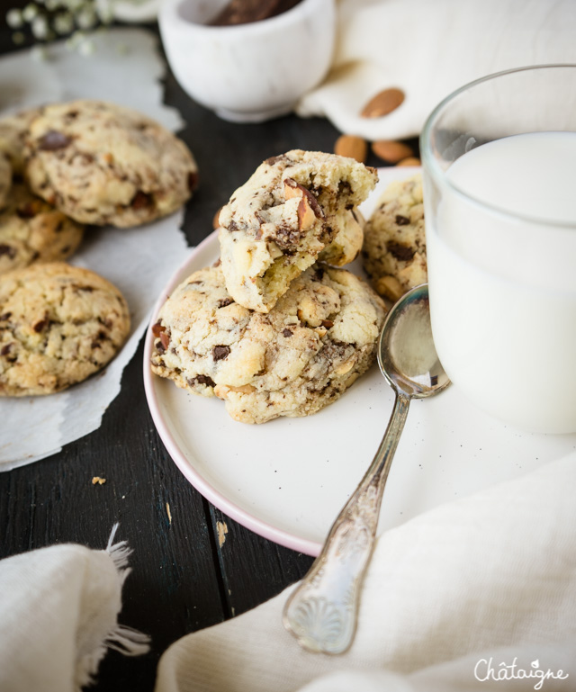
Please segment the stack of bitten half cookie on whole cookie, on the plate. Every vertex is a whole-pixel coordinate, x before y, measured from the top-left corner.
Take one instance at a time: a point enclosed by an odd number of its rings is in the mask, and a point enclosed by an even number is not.
[[[220,260],[159,311],[153,372],[245,423],[337,400],[373,364],[385,314],[340,268],[360,252],[356,206],[376,180],[352,158],[299,149],[258,166],[220,211]]]

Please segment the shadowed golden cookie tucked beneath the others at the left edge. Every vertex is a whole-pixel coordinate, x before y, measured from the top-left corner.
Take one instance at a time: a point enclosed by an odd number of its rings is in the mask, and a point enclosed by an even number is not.
[[[34,262],[67,259],[80,245],[84,226],[14,183],[0,206],[0,274]]]

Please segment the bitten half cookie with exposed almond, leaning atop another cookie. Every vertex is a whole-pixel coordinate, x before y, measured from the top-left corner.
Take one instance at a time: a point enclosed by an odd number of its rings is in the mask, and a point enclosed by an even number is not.
[[[374,168],[335,154],[293,149],[266,159],[220,211],[222,271],[232,298],[271,310],[343,224],[353,228],[350,211],[376,180]],[[346,260],[337,252],[330,261]]]

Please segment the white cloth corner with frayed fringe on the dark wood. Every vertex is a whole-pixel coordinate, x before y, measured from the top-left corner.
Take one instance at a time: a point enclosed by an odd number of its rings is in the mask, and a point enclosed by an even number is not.
[[[76,692],[106,649],[148,651],[148,637],[116,619],[130,572],[117,526],[103,551],[62,544],[0,562],[2,692]]]

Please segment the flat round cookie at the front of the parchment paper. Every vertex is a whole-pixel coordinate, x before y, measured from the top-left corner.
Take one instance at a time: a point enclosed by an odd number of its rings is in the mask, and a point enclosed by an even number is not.
[[[130,330],[121,292],[55,262],[0,276],[0,396],[51,394],[101,370]]]

